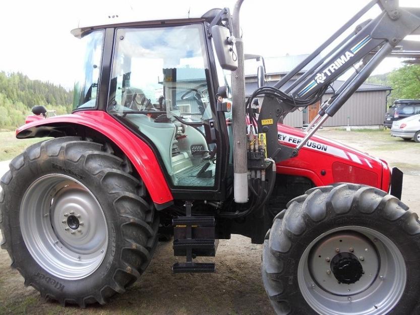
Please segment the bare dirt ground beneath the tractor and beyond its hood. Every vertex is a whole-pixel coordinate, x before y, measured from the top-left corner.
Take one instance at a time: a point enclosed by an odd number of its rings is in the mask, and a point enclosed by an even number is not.
[[[322,130],[320,135],[368,152],[404,172],[402,200],[420,214],[420,144],[389,136],[389,131]],[[0,174],[7,162],[0,162]],[[33,288],[10,268],[5,250],[0,250],[0,314],[156,314],[156,315],[274,315],[261,276],[262,245],[232,235],[221,240],[215,274],[173,275],[176,262],[171,242],[159,243],[156,254],[142,278],[106,306],[85,310],[40,298]],[[179,258],[182,260],[182,258]]]

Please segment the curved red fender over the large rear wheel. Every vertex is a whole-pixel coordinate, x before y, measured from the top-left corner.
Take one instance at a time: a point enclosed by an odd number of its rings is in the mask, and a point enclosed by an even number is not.
[[[152,149],[104,111],[80,111],[69,115],[37,119],[20,127],[16,131],[16,137],[31,138],[37,128],[61,123],[83,125],[110,139],[124,152],[136,168],[155,204],[162,205],[173,200],[165,176]]]

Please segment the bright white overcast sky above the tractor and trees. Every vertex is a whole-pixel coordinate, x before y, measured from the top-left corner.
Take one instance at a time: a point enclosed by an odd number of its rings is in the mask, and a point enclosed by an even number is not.
[[[230,7],[234,0],[13,0],[2,2],[0,71],[22,72],[72,88],[80,69],[79,39],[70,31],[79,23],[95,23],[108,15],[168,18],[177,12],[206,12]],[[341,27],[368,0],[245,0],[241,25],[245,51],[265,57],[308,54]],[[420,7],[418,0],[400,0],[400,6]],[[367,17],[374,17],[373,10]],[[420,40],[420,38],[416,38]],[[387,58],[374,74],[400,66]],[[276,69],[267,69],[275,72]]]

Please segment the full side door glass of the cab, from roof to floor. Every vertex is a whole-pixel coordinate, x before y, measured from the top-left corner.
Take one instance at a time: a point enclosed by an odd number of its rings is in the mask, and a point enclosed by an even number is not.
[[[215,184],[216,147],[203,25],[124,28],[115,34],[108,112],[157,148],[175,186]]]

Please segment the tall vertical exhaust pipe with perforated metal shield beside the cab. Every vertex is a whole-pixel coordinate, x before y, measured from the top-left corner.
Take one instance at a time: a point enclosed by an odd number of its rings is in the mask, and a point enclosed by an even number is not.
[[[232,72],[233,195],[239,204],[248,202],[247,124],[245,108],[244,42],[239,27],[239,11],[244,0],[233,9],[233,36],[236,37],[237,70]]]

